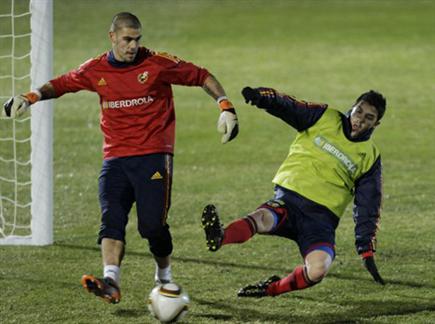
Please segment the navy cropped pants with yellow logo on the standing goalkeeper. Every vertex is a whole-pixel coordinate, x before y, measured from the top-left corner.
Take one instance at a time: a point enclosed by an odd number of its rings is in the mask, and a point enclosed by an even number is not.
[[[105,237],[125,242],[128,214],[135,202],[141,236],[158,236],[168,227],[171,185],[170,154],[104,160],[99,177],[102,216],[98,242]]]

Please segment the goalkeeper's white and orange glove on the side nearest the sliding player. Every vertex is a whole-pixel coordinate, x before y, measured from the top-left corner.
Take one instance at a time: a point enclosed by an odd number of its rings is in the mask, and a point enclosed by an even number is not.
[[[222,133],[222,144],[231,141],[239,133],[239,123],[237,121],[236,110],[233,104],[226,98],[218,98],[218,104],[221,109],[221,114],[219,116],[217,130]]]

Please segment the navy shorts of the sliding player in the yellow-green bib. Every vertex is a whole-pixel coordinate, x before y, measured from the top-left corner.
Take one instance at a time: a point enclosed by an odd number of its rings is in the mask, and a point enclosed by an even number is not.
[[[303,257],[317,248],[335,250],[339,219],[328,208],[280,186],[275,187],[274,198],[260,208],[278,215],[276,227],[269,234],[296,241]]]

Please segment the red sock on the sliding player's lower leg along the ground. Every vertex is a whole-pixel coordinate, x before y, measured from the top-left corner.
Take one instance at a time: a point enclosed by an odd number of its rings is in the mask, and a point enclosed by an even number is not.
[[[307,278],[304,266],[298,266],[287,277],[271,283],[267,287],[267,294],[276,296],[293,290],[305,289],[315,284],[316,282]]]

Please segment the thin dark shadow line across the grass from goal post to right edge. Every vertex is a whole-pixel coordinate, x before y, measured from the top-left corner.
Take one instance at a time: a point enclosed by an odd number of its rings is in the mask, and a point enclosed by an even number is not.
[[[65,243],[55,243],[54,246],[67,248],[67,249],[76,249],[76,250],[88,250],[88,251],[96,251],[100,252],[100,248],[97,246],[82,246],[82,245],[74,245],[74,244],[65,244]],[[153,256],[148,252],[135,252],[130,251],[126,252],[126,255],[130,256],[136,256],[141,258],[149,258],[152,259]],[[209,265],[213,267],[230,267],[230,268],[239,268],[239,269],[248,269],[248,270],[266,270],[270,272],[276,272],[277,274],[284,274],[287,273],[288,270],[285,267],[270,267],[266,265],[256,265],[256,264],[241,264],[241,263],[235,263],[235,262],[225,262],[225,261],[212,261],[212,260],[204,260],[199,258],[189,258],[189,257],[172,257],[172,260],[174,261],[181,261],[186,263],[195,263],[195,264],[203,264],[203,265]],[[329,273],[329,278],[336,278],[339,280],[351,280],[351,281],[369,281],[372,282],[373,280],[370,278],[364,278],[360,275],[344,275],[339,273]],[[398,286],[406,286],[410,288],[431,288],[435,289],[435,285],[430,285],[427,283],[420,283],[420,282],[414,282],[410,280],[388,280],[388,278],[384,278],[387,285],[398,285]]]

